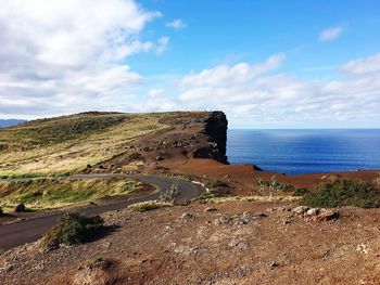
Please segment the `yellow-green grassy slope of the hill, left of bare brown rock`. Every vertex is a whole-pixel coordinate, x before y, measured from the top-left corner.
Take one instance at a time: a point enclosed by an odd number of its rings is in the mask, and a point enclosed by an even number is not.
[[[75,172],[169,129],[164,114],[83,113],[0,129],[0,176]]]

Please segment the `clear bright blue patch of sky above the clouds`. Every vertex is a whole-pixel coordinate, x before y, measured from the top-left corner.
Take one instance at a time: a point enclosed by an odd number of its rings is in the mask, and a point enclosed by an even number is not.
[[[300,76],[320,76],[307,67],[339,66],[379,52],[379,1],[186,1],[145,0],[149,10],[165,16],[147,26],[147,38],[169,36],[162,56],[141,54],[128,63],[141,73],[202,70],[220,63],[261,62],[287,52],[282,67]],[[187,28],[168,30],[168,20],[181,18]],[[318,41],[321,30],[342,27],[339,40]],[[141,60],[143,62],[141,64]],[[179,64],[180,63],[180,64]]]

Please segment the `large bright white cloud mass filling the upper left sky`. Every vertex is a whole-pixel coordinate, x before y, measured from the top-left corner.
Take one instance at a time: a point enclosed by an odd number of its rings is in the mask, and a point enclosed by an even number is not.
[[[162,53],[169,39],[142,41],[159,12],[134,0],[15,0],[0,10],[0,115],[114,107],[142,77],[125,60]]]

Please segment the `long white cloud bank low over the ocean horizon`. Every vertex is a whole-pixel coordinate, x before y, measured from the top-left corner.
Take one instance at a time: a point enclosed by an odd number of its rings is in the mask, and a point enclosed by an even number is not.
[[[378,56],[354,61],[368,73],[352,73],[350,78],[333,81],[276,73],[283,59],[280,54],[261,64],[219,65],[191,73],[179,80],[179,95],[173,102],[187,109],[223,109],[235,126],[372,122],[380,127],[380,73],[373,67]],[[342,69],[347,65],[352,64]]]

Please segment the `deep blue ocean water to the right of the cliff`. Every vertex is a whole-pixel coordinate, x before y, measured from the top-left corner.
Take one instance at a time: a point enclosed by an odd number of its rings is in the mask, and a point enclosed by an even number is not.
[[[229,130],[227,155],[287,174],[380,169],[380,129]]]

